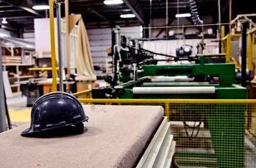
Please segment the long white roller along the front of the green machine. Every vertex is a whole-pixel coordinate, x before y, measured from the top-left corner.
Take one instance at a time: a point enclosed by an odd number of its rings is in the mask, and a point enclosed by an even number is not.
[[[134,87],[133,94],[214,94],[215,87]]]

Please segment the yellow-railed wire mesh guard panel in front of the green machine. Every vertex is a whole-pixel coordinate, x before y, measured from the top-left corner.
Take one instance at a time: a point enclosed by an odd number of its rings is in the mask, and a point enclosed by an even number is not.
[[[185,166],[256,167],[256,100],[80,99],[84,104],[161,105]]]

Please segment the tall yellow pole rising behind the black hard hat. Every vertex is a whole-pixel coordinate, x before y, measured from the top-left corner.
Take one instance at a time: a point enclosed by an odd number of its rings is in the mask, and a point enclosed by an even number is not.
[[[54,36],[54,14],[53,0],[49,0],[50,13],[50,38],[51,38],[51,61],[52,61],[52,91],[57,91],[57,76],[56,76],[56,52],[55,52],[55,36]]]

